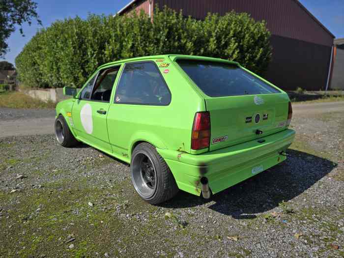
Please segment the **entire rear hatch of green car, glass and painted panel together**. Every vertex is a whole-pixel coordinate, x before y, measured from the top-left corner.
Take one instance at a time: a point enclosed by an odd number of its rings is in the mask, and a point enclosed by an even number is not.
[[[289,98],[237,63],[177,59],[204,94],[216,150],[285,130]]]

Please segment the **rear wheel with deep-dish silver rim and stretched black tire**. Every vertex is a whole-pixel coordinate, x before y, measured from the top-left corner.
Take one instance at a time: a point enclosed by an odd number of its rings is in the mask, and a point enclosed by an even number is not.
[[[130,173],[136,192],[150,204],[168,201],[179,191],[170,168],[149,143],[140,143],[135,147]]]

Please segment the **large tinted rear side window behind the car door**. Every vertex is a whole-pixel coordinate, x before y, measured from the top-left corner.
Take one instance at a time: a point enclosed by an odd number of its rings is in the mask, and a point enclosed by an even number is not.
[[[125,64],[115,103],[169,105],[170,102],[170,90],[153,62]]]

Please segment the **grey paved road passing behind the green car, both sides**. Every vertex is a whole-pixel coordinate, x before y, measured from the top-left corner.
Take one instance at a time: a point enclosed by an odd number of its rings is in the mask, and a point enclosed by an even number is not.
[[[312,115],[344,112],[344,102],[294,104],[293,112]],[[0,137],[54,133],[55,110],[21,110],[0,108]]]

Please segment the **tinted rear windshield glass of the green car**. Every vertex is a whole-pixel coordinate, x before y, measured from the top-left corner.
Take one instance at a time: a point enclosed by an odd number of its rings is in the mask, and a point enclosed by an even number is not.
[[[210,97],[280,93],[234,64],[187,59],[179,59],[177,63]]]

